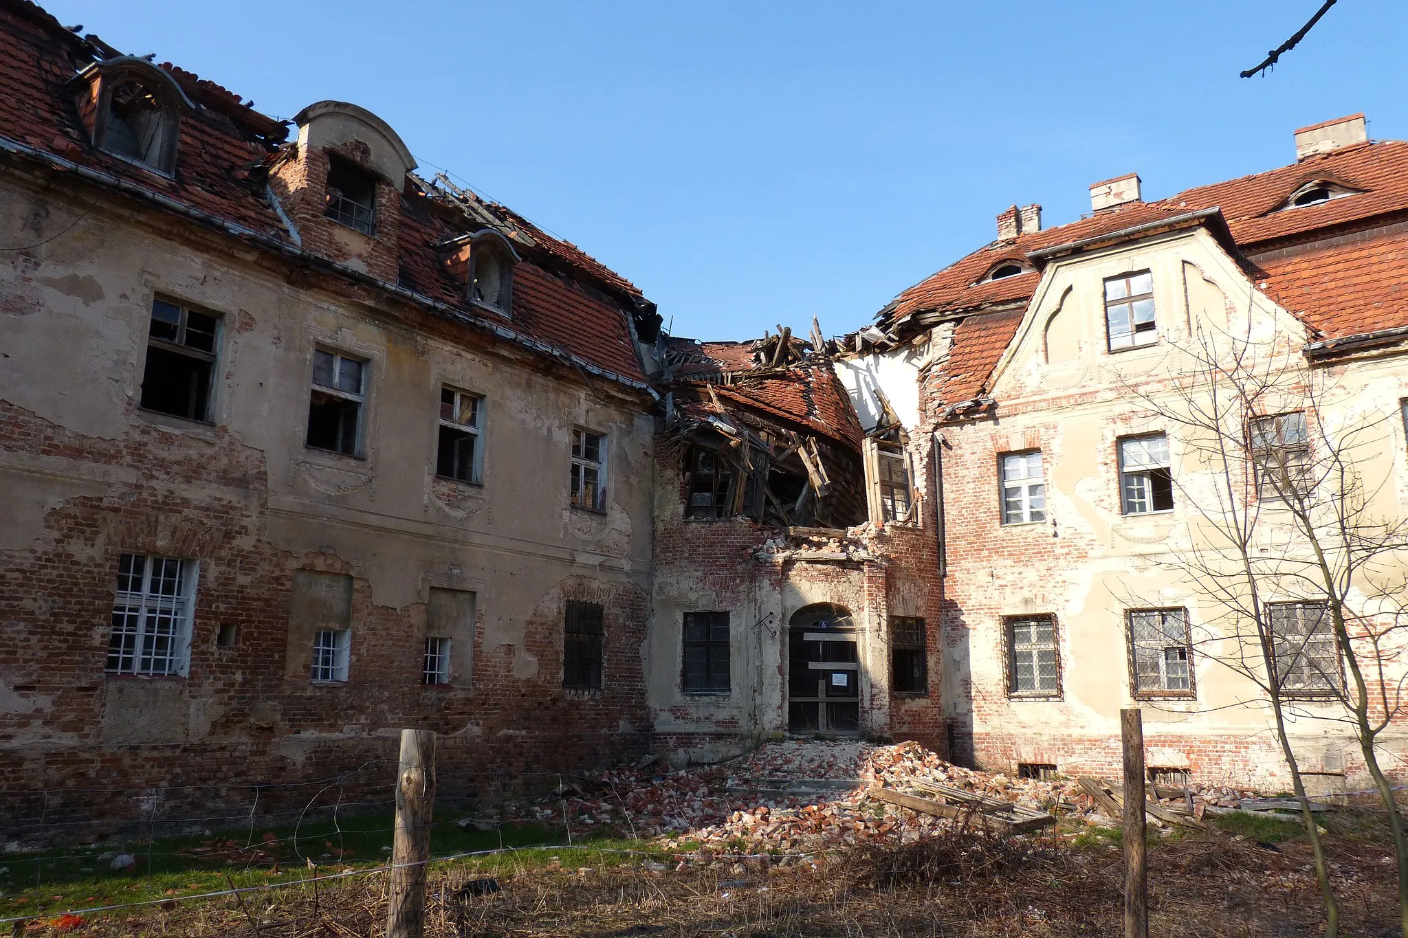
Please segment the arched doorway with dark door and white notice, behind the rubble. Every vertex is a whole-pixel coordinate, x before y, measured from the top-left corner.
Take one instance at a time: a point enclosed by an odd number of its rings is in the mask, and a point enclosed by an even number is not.
[[[793,613],[787,641],[787,728],[860,731],[860,664],[850,610],[828,602]]]

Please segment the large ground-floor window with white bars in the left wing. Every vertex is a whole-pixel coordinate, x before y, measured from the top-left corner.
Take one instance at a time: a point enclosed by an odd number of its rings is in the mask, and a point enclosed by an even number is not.
[[[182,675],[190,668],[196,561],[122,554],[117,567],[107,671]]]

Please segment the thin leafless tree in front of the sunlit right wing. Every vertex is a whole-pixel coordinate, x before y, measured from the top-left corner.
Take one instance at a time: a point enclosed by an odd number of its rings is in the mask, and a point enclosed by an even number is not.
[[[1181,361],[1171,391],[1126,387],[1184,447],[1186,474],[1174,484],[1193,518],[1164,563],[1215,610],[1195,647],[1257,688],[1273,717],[1326,935],[1338,934],[1338,904],[1287,724],[1352,727],[1388,811],[1408,938],[1408,844],[1378,752],[1408,703],[1408,523],[1390,474],[1376,480],[1369,470],[1384,464],[1393,418],[1360,406],[1342,370],[1312,366],[1287,335],[1204,328],[1170,346],[1170,360]]]

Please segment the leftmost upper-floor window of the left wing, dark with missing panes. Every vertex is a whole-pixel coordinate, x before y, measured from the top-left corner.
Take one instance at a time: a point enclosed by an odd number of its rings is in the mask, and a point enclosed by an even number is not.
[[[210,419],[215,371],[215,316],[166,300],[152,301],[142,371],[142,409]]]

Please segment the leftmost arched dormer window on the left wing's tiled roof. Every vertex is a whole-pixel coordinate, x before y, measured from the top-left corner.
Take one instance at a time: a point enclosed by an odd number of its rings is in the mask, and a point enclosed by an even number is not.
[[[194,110],[176,79],[145,59],[120,56],[80,73],[92,100],[93,143],[172,176],[182,111]]]

